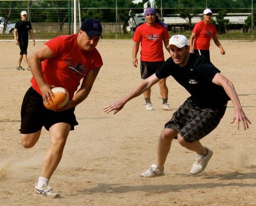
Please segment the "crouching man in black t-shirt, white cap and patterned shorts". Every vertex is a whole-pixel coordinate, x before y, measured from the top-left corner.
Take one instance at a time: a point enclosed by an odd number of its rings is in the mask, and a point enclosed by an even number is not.
[[[206,58],[189,53],[189,41],[185,36],[172,36],[168,48],[171,57],[155,74],[135,86],[121,100],[104,108],[105,113],[114,111],[115,114],[129,100],[170,75],[191,94],[165,124],[158,141],[157,163],[141,174],[144,177],[164,175],[164,164],[173,139],[178,139],[179,144],[196,152],[190,173],[201,173],[210,160],[212,151],[199,140],[220,123],[229,100],[234,105],[234,117],[230,123],[237,120],[237,129],[241,122],[244,130],[251,124],[242,109],[233,83]]]

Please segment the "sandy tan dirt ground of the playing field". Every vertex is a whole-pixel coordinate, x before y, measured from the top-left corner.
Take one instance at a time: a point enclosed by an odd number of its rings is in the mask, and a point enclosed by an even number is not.
[[[29,43],[28,53],[42,46]],[[165,176],[139,175],[156,163],[156,145],[164,124],[189,96],[172,77],[167,79],[173,111],[162,111],[157,85],[152,87],[154,110],[146,111],[143,96],[113,115],[103,107],[140,82],[132,65],[131,40],[100,40],[104,65],[89,97],[76,108],[79,125],[70,132],[60,164],[50,185],[60,198],[33,196],[33,188],[49,147],[43,129],[38,143],[20,143],[20,108],[30,86],[29,71],[16,71],[19,48],[0,42],[0,205],[1,206],[256,206],[256,63],[255,41],[221,41],[226,55],[211,42],[211,61],[235,85],[251,120],[250,128],[230,124],[229,102],[219,126],[201,142],[213,151],[207,168],[190,175],[195,154],[173,141]],[[166,58],[168,57],[165,51]],[[22,62],[22,66],[25,67]]]

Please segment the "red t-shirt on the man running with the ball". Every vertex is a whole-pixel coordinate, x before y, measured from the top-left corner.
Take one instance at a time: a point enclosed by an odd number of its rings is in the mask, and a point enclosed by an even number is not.
[[[41,63],[45,82],[67,89],[70,100],[77,91],[80,80],[86,77],[90,70],[103,65],[96,48],[89,52],[78,48],[77,36],[78,34],[65,35],[47,41],[45,45],[53,51],[54,57]],[[31,83],[35,91],[41,94],[34,77]]]

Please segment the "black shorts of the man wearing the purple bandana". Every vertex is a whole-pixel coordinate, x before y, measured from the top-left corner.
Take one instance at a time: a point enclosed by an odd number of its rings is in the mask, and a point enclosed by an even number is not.
[[[163,65],[164,61],[160,62],[145,62],[141,61],[141,78],[146,79],[152,74],[156,73],[158,69]]]

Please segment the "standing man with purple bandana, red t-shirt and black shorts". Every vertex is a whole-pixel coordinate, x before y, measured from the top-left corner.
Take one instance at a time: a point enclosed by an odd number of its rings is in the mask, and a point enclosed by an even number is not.
[[[164,63],[164,51],[163,42],[167,48],[169,41],[169,34],[167,31],[167,25],[158,20],[156,10],[154,8],[147,8],[145,10],[145,23],[138,26],[134,33],[133,41],[133,64],[134,67],[138,66],[137,53],[139,51],[139,45],[141,44],[141,78],[146,79],[147,77],[154,74]],[[166,85],[166,79],[161,79],[158,82],[160,87],[160,94],[163,99],[163,110],[171,110],[168,100],[168,88]],[[152,103],[150,100],[151,89],[148,89],[144,93],[145,108],[146,110],[153,110]]]

